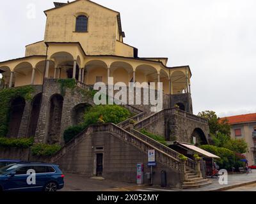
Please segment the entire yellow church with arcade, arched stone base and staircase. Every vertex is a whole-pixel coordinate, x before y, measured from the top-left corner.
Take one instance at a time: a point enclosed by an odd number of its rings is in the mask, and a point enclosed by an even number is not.
[[[4,120],[8,129],[2,129],[6,134],[0,136],[34,137],[35,143],[61,145],[58,154],[44,159],[60,164],[65,172],[129,182],[136,182],[136,164],[147,163],[147,150],[155,149],[157,184],[161,170],[166,170],[169,186],[208,184],[196,161],[184,164],[179,152],[140,133],[143,128],[169,142],[208,143],[207,120],[193,115],[189,66],[170,67],[166,57],[139,57],[137,48],[124,43],[118,11],[88,0],[54,6],[44,11],[44,39],[27,45],[24,57],[0,62],[0,91],[33,87],[28,99],[23,95],[10,99],[12,111]],[[108,84],[109,77],[125,85],[163,82],[163,110],[152,113],[147,105],[125,105],[135,115],[131,119],[117,126],[90,126],[65,144],[65,129],[79,123],[87,105],[95,105],[84,91],[96,82]],[[64,90],[60,81],[67,79],[73,79],[76,88]],[[0,157],[34,158],[26,149],[0,149]],[[149,170],[145,166],[145,173]],[[197,181],[191,183],[186,173]]]

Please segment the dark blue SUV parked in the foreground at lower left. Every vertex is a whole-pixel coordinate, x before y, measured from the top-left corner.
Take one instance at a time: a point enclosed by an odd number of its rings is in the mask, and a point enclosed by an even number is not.
[[[17,163],[0,168],[0,191],[57,191],[64,175],[55,164]]]

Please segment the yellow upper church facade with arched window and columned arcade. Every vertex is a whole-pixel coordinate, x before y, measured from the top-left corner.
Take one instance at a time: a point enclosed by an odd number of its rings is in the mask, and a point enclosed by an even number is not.
[[[44,78],[77,82],[163,82],[165,94],[190,93],[189,66],[168,67],[166,57],[138,57],[124,43],[120,13],[88,0],[54,3],[44,11],[44,40],[26,46],[25,57],[0,62],[1,87],[41,85]],[[152,39],[154,40],[154,39]]]

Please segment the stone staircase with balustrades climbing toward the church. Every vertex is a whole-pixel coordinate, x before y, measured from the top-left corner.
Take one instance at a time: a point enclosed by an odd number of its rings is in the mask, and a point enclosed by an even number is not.
[[[86,85],[81,84],[81,82],[77,83],[77,85],[83,89],[88,89]],[[192,159],[186,161],[186,163],[182,163],[179,159],[179,152],[176,152],[169,147],[153,140],[152,138],[143,135],[138,131],[148,124],[154,122],[158,117],[166,112],[177,111],[170,110],[162,110],[161,112],[154,113],[148,116],[148,113],[142,112],[138,108],[134,106],[125,105],[131,112],[137,113],[134,117],[121,122],[118,125],[115,124],[97,124],[90,126],[75,138],[73,138],[70,142],[68,142],[59,152],[57,152],[54,156],[51,157],[51,163],[55,163],[61,157],[63,157],[67,152],[76,147],[85,137],[92,135],[93,133],[108,131],[113,136],[116,136],[120,140],[124,142],[130,143],[137,149],[145,152],[147,154],[148,150],[155,149],[156,151],[156,159],[158,163],[163,164],[164,166],[171,168],[173,171],[181,173],[184,175],[182,188],[195,188],[205,186],[210,184],[207,179],[203,179],[201,174],[198,175],[196,173],[196,162]],[[183,112],[181,112],[183,114]],[[186,112],[185,112],[186,114]],[[197,118],[196,118],[197,119]]]

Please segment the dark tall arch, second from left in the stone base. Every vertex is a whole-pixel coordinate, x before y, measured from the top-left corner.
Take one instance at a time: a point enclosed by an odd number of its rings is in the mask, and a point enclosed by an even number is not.
[[[29,127],[28,127],[28,134],[27,136],[30,138],[35,136],[36,133],[36,126],[38,122],[38,117],[40,113],[40,105],[42,100],[42,93],[37,94],[33,101],[31,102],[31,112],[29,117]]]

